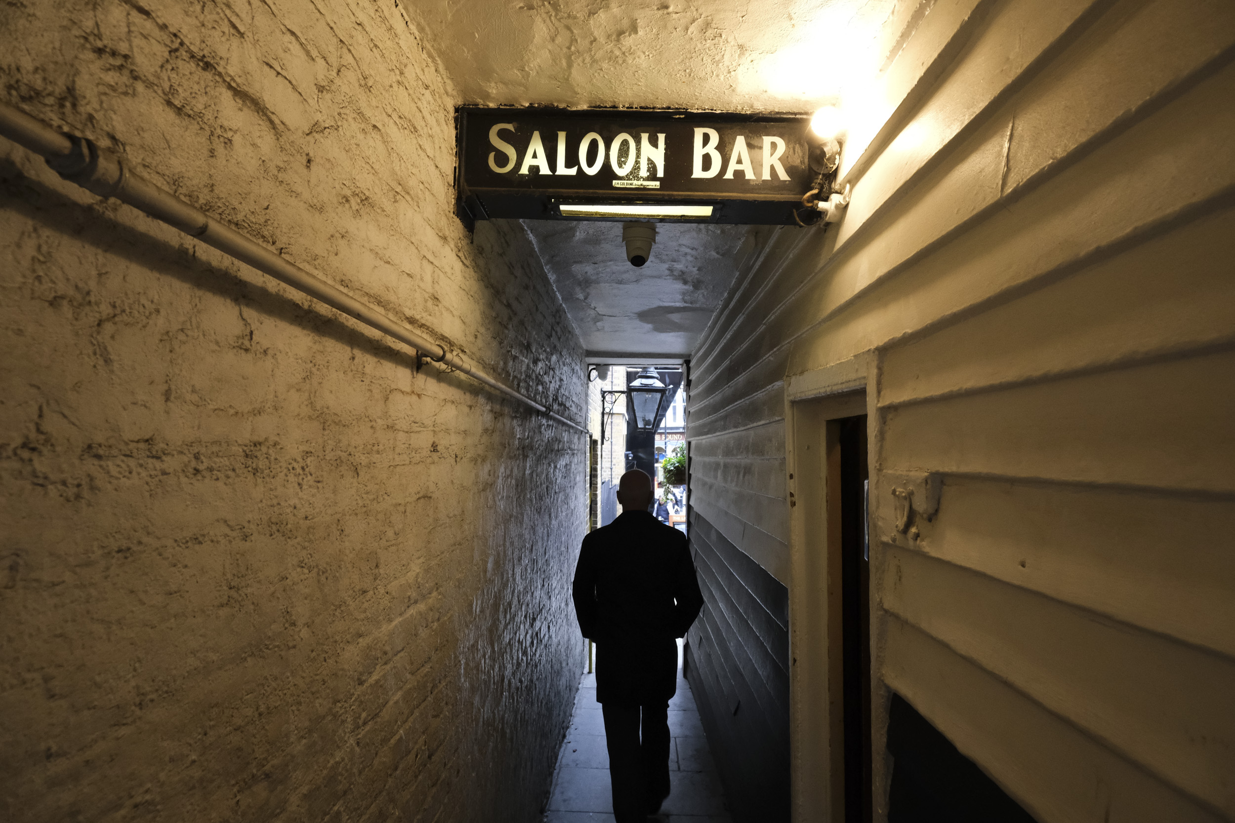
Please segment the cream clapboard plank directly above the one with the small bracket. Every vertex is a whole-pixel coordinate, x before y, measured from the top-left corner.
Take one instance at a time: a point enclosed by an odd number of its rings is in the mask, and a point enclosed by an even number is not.
[[[1235,350],[895,406],[889,468],[1235,494]]]

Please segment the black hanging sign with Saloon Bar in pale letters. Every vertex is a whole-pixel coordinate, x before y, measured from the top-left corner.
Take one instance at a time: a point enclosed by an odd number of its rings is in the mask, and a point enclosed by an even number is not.
[[[461,109],[458,212],[475,220],[792,225],[805,117]]]

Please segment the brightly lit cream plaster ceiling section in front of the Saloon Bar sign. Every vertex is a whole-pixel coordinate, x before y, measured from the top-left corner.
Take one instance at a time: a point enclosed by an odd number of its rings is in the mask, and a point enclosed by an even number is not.
[[[430,47],[467,102],[813,111],[861,89],[852,81],[899,32],[882,23],[918,5],[417,0],[411,14],[433,32]]]

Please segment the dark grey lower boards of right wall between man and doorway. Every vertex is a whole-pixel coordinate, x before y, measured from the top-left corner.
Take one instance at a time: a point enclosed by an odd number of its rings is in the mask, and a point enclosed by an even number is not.
[[[789,590],[698,512],[685,671],[735,821],[789,819]]]

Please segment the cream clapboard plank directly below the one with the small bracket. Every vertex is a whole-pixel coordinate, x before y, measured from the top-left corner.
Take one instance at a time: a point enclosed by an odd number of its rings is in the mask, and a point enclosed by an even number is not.
[[[890,550],[882,595],[900,619],[1160,780],[1235,814],[1235,660],[906,549]]]

